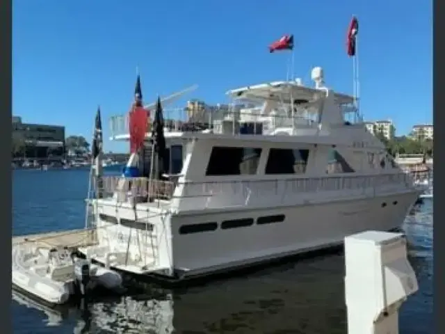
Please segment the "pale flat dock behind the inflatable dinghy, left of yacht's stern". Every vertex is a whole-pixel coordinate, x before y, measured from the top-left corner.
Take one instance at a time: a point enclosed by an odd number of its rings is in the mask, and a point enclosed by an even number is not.
[[[60,232],[35,233],[13,236],[13,246],[16,244],[35,242],[48,247],[91,246],[97,243],[96,233],[93,230],[64,230]]]

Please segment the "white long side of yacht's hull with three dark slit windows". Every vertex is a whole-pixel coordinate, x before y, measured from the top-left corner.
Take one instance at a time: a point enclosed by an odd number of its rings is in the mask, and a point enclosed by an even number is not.
[[[170,281],[202,278],[340,246],[344,237],[364,230],[395,230],[402,225],[418,196],[418,191],[407,191],[293,207],[174,215],[170,221],[174,275],[163,275],[162,271],[147,275]],[[277,223],[257,224],[259,217],[274,215],[284,215],[285,218]],[[241,228],[221,228],[223,221],[245,218],[252,218],[254,223]],[[218,223],[218,229],[179,233],[182,225],[208,222]],[[122,267],[117,269],[136,273]]]

